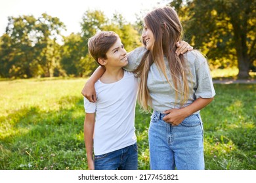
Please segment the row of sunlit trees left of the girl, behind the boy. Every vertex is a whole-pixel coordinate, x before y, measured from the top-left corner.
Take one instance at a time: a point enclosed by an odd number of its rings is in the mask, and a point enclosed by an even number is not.
[[[64,29],[58,18],[48,14],[9,17],[6,33],[0,38],[0,76],[89,76],[98,65],[89,56],[87,41],[97,31],[115,31],[127,51],[140,45],[135,25],[117,13],[109,20],[101,11],[87,10],[80,33],[64,37]]]

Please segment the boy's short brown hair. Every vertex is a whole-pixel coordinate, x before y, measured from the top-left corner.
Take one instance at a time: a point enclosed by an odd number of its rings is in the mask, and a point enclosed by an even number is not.
[[[106,52],[117,41],[119,36],[113,31],[100,31],[88,40],[88,49],[91,56],[98,63],[98,58],[106,58]],[[100,65],[100,63],[98,63]]]

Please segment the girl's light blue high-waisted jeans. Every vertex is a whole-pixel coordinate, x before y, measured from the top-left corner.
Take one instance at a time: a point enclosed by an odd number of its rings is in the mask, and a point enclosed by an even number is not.
[[[150,169],[202,170],[203,123],[192,114],[173,126],[163,121],[165,114],[154,111],[148,130]]]

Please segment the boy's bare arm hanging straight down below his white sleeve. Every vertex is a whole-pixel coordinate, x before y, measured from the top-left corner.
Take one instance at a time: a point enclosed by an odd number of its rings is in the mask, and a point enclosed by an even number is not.
[[[83,137],[85,141],[85,149],[87,153],[87,162],[89,170],[95,169],[93,160],[93,133],[95,131],[95,113],[86,113],[85,122],[83,124]]]

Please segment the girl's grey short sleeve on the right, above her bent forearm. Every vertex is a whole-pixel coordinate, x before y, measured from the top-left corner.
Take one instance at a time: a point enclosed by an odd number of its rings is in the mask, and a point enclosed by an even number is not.
[[[196,80],[198,88],[196,89],[195,95],[198,98],[212,98],[215,95],[215,89],[213,87],[213,80],[207,59],[202,54],[196,54]]]

